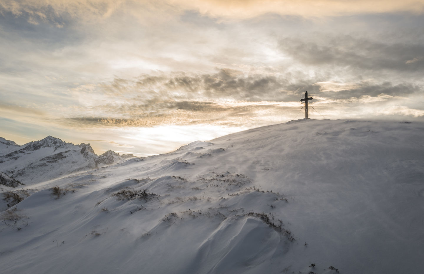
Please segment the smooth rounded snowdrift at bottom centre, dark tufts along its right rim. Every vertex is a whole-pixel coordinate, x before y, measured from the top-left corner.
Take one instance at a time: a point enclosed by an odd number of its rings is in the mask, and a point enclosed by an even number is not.
[[[204,240],[197,250],[190,273],[271,273],[275,257],[288,250],[281,236],[259,218],[234,216]],[[237,258],[237,260],[234,260]],[[271,269],[270,269],[271,268]]]

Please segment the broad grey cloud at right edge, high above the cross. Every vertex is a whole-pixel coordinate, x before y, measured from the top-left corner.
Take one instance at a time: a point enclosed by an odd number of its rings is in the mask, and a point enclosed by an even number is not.
[[[415,57],[424,52],[424,45],[414,42],[383,43],[351,35],[323,34],[315,40],[286,37],[279,45],[282,52],[295,62],[306,65],[373,71],[424,71],[424,62]]]

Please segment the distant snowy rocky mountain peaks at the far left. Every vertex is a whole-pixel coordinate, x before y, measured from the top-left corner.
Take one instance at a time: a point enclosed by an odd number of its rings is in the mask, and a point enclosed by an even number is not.
[[[4,138],[0,142],[0,184],[10,187],[89,171],[134,157],[113,151],[98,156],[90,144],[74,145],[52,136],[21,146]]]

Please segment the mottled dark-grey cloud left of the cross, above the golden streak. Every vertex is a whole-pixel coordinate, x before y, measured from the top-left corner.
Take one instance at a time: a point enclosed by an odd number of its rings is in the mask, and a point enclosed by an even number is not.
[[[98,85],[72,90],[84,105],[138,102],[143,108],[155,102],[175,101],[283,101],[287,78],[267,74],[244,74],[221,69],[216,73],[160,73],[136,79],[115,78]],[[88,98],[94,100],[89,100]],[[100,109],[101,111],[101,109]]]

